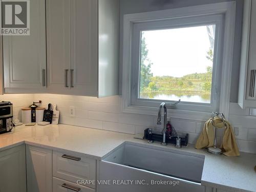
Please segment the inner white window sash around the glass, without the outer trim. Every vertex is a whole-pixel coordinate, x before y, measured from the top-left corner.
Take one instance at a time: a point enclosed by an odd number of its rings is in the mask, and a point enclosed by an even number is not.
[[[221,86],[221,71],[222,63],[222,33],[223,33],[223,14],[219,15],[203,15],[192,18],[178,18],[178,19],[165,19],[163,21],[158,20],[155,22],[142,22],[135,23],[133,25],[132,32],[132,84],[133,89],[131,90],[131,104],[137,106],[149,106],[157,108],[160,102],[174,103],[175,101],[165,100],[154,100],[154,99],[142,99],[138,98],[139,92],[139,80],[140,80],[140,44],[141,44],[141,31],[147,30],[160,30],[160,29],[176,29],[183,27],[197,27],[205,25],[216,25],[216,38],[215,38],[215,50],[214,50],[214,65],[212,68],[212,89],[211,89],[211,100],[210,103],[200,102],[184,102],[181,101],[177,105],[176,109],[188,110],[188,111],[218,111],[219,108],[219,91]]]

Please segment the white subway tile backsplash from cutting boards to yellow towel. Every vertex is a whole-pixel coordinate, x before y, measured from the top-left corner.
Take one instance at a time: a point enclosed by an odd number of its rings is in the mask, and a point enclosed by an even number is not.
[[[122,113],[122,98],[94,98],[69,95],[35,94],[34,100],[42,100],[42,106],[56,103],[60,111],[60,123],[122,133],[143,133],[147,127],[162,129],[155,116]],[[69,107],[75,106],[75,117],[69,116]],[[189,133],[189,142],[195,143],[202,123],[182,119],[171,119],[179,132]]]

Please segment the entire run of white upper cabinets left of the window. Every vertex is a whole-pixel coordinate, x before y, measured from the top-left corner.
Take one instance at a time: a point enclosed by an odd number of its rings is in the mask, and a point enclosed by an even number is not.
[[[30,28],[3,36],[5,93],[118,95],[119,0],[33,0]]]

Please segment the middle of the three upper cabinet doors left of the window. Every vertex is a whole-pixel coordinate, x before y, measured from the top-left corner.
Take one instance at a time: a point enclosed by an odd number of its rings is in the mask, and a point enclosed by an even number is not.
[[[70,93],[70,1],[47,0],[47,86]]]

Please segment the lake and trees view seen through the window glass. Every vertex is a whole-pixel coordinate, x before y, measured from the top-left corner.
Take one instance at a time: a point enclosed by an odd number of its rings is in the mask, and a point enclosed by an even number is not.
[[[215,25],[141,32],[139,98],[210,103]]]

